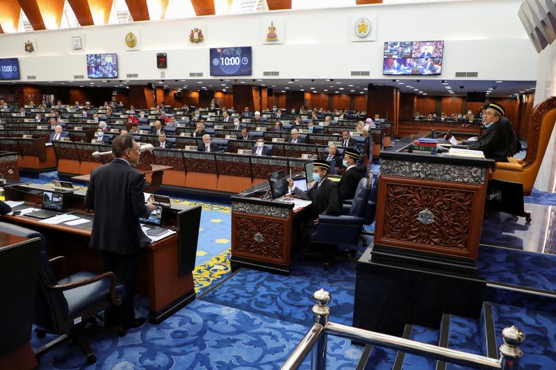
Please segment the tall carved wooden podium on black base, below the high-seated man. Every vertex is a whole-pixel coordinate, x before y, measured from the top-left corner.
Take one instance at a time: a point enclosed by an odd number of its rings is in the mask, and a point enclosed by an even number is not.
[[[412,141],[412,140],[411,140]],[[479,317],[475,258],[493,160],[380,153],[375,239],[357,263],[354,326],[402,335]]]

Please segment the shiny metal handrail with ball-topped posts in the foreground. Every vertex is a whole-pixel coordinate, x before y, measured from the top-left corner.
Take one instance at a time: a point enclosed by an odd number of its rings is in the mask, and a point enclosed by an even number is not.
[[[311,369],[325,369],[327,335],[354,339],[365,344],[377,344],[379,346],[393,348],[407,353],[414,353],[434,360],[477,367],[480,369],[515,370],[518,369],[519,360],[521,356],[523,356],[523,352],[519,346],[523,343],[523,340],[525,340],[525,335],[515,326],[502,330],[502,339],[504,343],[500,345],[498,349],[500,351],[500,359],[495,359],[475,355],[473,353],[456,351],[450,348],[434,346],[432,344],[416,342],[411,339],[404,339],[393,335],[353,328],[339,323],[331,323],[328,321],[330,314],[328,303],[332,299],[329,292],[320,289],[313,294],[313,298],[317,301],[317,304],[313,305],[311,309],[315,321],[313,327],[303,337],[302,342],[297,345],[284,365],[282,365],[281,369],[297,369],[311,351]]]

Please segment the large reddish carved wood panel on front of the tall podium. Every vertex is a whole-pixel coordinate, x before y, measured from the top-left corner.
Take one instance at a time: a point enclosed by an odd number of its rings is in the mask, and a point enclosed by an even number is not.
[[[381,176],[375,243],[476,258],[485,187]]]

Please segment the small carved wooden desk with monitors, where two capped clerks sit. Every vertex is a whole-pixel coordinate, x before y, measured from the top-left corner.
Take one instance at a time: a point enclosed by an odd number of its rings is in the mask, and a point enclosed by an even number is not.
[[[231,266],[290,273],[298,221],[311,205],[263,199],[268,182],[231,196]]]

